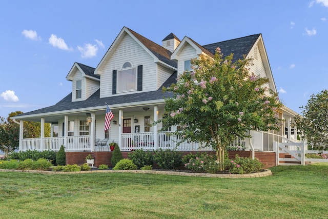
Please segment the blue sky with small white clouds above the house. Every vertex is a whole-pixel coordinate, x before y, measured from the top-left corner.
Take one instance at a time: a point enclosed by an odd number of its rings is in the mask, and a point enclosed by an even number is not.
[[[0,116],[54,105],[74,62],[96,67],[126,26],[161,45],[262,33],[279,97],[300,112],[328,88],[328,0],[1,1]]]

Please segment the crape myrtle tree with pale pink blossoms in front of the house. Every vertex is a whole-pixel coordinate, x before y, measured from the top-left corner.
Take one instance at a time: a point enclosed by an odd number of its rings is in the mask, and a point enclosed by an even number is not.
[[[224,149],[238,137],[251,137],[249,130],[279,130],[281,120],[275,111],[281,106],[277,93],[268,88],[269,79],[250,74],[251,58],[232,62],[233,54],[223,58],[216,48],[214,58],[192,60],[192,71],[178,75],[177,82],[164,91],[162,130],[180,128],[172,134],[182,141],[211,146],[220,170]]]

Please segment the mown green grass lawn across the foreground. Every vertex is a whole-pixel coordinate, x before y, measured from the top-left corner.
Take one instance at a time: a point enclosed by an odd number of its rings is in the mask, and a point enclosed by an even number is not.
[[[0,172],[2,218],[326,218],[328,165],[261,178]]]

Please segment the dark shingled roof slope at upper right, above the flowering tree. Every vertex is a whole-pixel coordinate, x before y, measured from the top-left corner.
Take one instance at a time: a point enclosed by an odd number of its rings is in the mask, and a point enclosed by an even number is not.
[[[215,48],[220,47],[223,57],[234,53],[233,62],[242,59],[243,55],[247,55],[258,37],[261,34],[254,34],[250,36],[244,36],[240,38],[230,39],[229,41],[222,41],[218,43],[204,45],[203,47],[210,51],[212,54],[215,54]]]

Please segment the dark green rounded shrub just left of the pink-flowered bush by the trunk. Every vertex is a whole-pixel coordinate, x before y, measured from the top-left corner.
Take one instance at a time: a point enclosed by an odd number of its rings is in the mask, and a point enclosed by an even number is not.
[[[154,155],[154,161],[161,169],[175,169],[181,165],[182,152],[175,150],[156,150]]]

